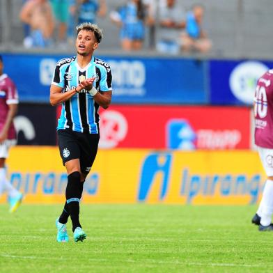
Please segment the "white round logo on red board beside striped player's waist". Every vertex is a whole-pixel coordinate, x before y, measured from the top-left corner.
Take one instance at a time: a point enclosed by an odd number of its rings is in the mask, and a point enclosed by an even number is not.
[[[128,123],[118,111],[107,110],[100,114],[100,148],[114,148],[127,136]]]

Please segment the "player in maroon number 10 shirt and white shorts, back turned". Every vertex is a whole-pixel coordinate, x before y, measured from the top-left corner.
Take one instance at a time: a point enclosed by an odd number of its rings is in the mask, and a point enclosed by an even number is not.
[[[254,98],[255,144],[267,180],[263,196],[252,223],[259,231],[273,231],[273,70],[258,79]]]

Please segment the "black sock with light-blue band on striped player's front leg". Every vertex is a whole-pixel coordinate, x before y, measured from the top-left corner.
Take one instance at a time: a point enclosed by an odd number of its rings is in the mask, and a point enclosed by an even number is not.
[[[68,205],[68,212],[72,221],[72,231],[78,226],[79,223],[79,199],[81,198],[81,181],[79,171],[70,173],[68,176],[68,185],[65,190],[66,203]]]

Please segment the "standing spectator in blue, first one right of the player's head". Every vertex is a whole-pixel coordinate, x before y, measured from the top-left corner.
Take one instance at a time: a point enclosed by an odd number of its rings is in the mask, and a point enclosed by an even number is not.
[[[139,50],[143,47],[146,8],[142,0],[128,0],[125,5],[112,11],[110,18],[120,27],[120,42],[124,50]]]

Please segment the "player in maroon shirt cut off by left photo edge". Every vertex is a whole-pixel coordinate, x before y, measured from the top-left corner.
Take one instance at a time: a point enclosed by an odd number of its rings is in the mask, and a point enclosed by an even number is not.
[[[0,56],[0,195],[8,193],[10,212],[15,212],[22,202],[23,195],[18,192],[7,178],[5,163],[8,150],[16,143],[13,118],[17,113],[18,95],[13,81],[3,74],[3,59]]]

